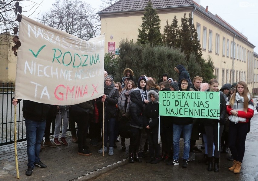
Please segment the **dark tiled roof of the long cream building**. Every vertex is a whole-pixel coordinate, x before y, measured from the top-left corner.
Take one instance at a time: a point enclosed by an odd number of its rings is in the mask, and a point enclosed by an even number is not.
[[[128,11],[139,11],[144,10],[147,5],[148,0],[119,0],[115,2],[113,5],[101,10],[98,12],[99,15],[101,14],[109,14],[114,12],[128,12]],[[232,32],[240,39],[248,42],[251,46],[255,47],[251,42],[248,41],[248,38],[244,36],[242,33],[236,30],[233,26],[223,20],[220,16],[213,15],[211,12],[207,11],[206,8],[197,4],[193,0],[152,0],[152,7],[154,9],[163,9],[163,8],[175,8],[175,7],[182,7],[182,6],[192,6],[196,7],[201,13],[205,14],[207,17],[211,18],[211,20],[217,22],[228,31]]]

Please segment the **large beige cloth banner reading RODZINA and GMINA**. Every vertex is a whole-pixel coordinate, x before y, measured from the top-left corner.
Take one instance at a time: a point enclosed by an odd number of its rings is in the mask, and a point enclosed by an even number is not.
[[[15,98],[73,105],[104,94],[104,35],[85,41],[24,15]]]

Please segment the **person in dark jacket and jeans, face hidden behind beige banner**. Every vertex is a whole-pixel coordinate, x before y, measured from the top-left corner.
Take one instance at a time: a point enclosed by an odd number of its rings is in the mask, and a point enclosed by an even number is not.
[[[21,99],[13,98],[12,104],[15,106],[20,101]],[[23,100],[22,112],[26,126],[28,155],[28,169],[25,173],[27,176],[31,176],[35,166],[47,168],[47,166],[40,161],[39,151],[49,110],[50,106],[48,104]]]

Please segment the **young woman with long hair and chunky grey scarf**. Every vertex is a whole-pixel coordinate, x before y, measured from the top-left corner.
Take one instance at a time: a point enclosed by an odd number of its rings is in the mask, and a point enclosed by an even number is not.
[[[135,84],[133,80],[129,80],[125,85],[124,89],[119,95],[117,106],[119,108],[119,134],[121,136],[121,146],[122,150],[125,151],[126,147],[124,144],[125,138],[130,137],[129,127],[129,106],[130,106],[130,95],[131,92],[135,89]]]

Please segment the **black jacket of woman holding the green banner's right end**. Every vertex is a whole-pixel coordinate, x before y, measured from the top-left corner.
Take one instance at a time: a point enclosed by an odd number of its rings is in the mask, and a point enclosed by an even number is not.
[[[207,92],[209,92],[210,89],[207,90]],[[226,100],[223,96],[223,93],[220,91],[220,119],[202,119],[203,125],[213,125],[215,123],[220,123],[220,125],[224,125],[225,124],[225,115],[227,112],[226,109]]]

